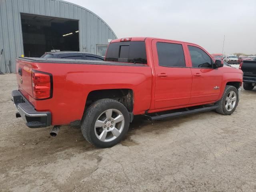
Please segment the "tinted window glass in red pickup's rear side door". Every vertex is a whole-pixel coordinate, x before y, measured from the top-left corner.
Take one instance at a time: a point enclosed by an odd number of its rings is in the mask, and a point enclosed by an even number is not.
[[[184,52],[181,44],[156,43],[158,63],[164,67],[186,67]]]

